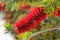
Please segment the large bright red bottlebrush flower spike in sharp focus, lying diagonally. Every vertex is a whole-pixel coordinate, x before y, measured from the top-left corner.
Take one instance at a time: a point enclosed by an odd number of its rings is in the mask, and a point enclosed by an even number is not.
[[[46,18],[44,9],[40,7],[33,8],[22,20],[12,24],[17,34],[30,31],[37,27],[37,24]]]

